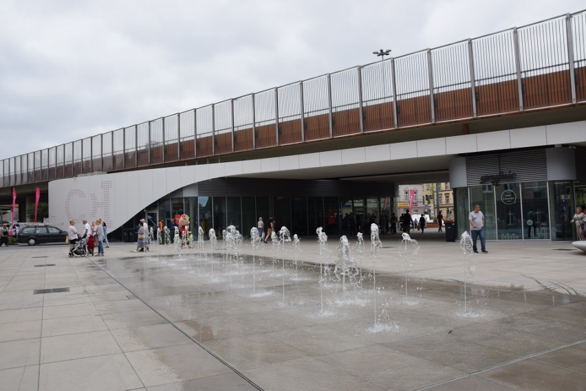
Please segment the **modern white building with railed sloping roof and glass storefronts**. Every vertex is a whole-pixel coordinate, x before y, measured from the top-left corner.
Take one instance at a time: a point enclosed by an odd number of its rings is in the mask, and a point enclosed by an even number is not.
[[[39,187],[51,223],[102,217],[120,237],[180,213],[245,234],[274,215],[303,235],[367,230],[400,184],[439,182],[458,232],[478,203],[490,239],[571,240],[585,32],[586,12],[557,16],[7,157],[0,203],[14,188],[25,210]]]

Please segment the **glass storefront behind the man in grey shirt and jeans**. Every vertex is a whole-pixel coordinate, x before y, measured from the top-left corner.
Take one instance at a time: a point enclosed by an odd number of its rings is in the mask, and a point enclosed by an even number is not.
[[[576,230],[569,220],[586,201],[586,183],[530,181],[455,189],[457,233],[470,230],[474,205],[486,218],[486,239],[498,241],[572,241]],[[576,199],[576,202],[574,202]]]

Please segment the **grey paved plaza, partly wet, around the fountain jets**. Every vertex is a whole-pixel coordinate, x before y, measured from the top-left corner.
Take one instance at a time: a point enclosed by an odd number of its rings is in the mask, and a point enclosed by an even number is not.
[[[374,256],[351,238],[337,276],[334,237],[2,247],[1,388],[586,390],[585,253],[488,242],[465,263],[459,243],[413,238]]]

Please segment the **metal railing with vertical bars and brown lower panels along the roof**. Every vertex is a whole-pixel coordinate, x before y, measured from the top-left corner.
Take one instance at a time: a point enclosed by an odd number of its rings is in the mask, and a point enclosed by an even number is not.
[[[0,185],[586,100],[586,11],[250,93],[0,160]]]

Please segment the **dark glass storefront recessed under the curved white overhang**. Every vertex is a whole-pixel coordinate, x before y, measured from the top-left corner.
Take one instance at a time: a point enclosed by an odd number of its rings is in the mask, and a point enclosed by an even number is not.
[[[167,227],[172,227],[175,216],[188,214],[194,238],[197,238],[197,227],[200,225],[206,240],[211,228],[221,238],[222,231],[228,225],[235,225],[243,236],[249,237],[250,229],[257,227],[260,216],[265,221],[265,232],[269,217],[274,216],[276,230],[284,225],[291,235],[312,236],[317,227],[324,227],[328,234],[355,235],[357,232],[369,232],[370,223],[379,223],[383,210],[390,215],[390,199],[392,198],[199,196],[161,199],[149,208]],[[140,212],[133,220],[138,222],[143,215],[144,212]]]

